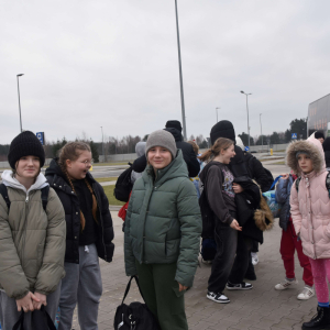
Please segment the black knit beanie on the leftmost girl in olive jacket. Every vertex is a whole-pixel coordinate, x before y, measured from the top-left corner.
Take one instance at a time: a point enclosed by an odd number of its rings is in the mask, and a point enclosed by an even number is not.
[[[34,133],[30,131],[19,134],[10,144],[8,162],[11,168],[15,168],[16,162],[23,156],[36,156],[40,166],[45,164],[45,151]]]

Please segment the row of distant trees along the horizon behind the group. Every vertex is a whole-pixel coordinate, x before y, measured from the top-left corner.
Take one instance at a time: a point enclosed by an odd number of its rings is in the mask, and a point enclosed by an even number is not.
[[[287,143],[292,141],[292,133],[296,133],[299,139],[307,139],[307,119],[295,119],[290,122],[290,128],[285,132],[273,132],[273,134],[268,135],[257,135],[250,136],[250,145],[264,145],[266,144],[280,144]],[[123,138],[114,138],[105,135],[105,142],[94,142],[85,132],[82,132],[81,136],[77,136],[76,141],[84,141],[89,143],[92,157],[96,163],[99,162],[99,155],[105,154],[106,160],[109,155],[114,154],[130,154],[135,152],[135,145],[140,141],[146,141],[148,135],[141,136],[132,136],[127,135]],[[248,145],[249,136],[246,133],[239,134],[242,139],[244,145]],[[189,140],[195,141],[200,148],[208,147],[208,141],[204,138],[204,135],[190,135]],[[58,151],[67,143],[66,138],[62,140],[46,142],[45,144],[45,153],[47,158],[52,158],[58,155]],[[9,152],[9,145],[0,144],[0,161],[7,161],[7,155]]]

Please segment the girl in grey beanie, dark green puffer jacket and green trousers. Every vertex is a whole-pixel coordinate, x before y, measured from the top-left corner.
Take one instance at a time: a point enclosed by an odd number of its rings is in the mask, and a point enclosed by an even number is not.
[[[198,264],[201,217],[194,184],[173,135],[150,134],[147,167],[129,204],[124,258],[162,330],[188,329],[184,294]]]

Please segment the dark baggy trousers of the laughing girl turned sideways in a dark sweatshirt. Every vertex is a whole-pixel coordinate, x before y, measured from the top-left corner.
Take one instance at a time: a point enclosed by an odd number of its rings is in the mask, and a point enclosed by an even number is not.
[[[212,263],[208,290],[222,293],[230,275],[238,245],[238,231],[220,223],[215,231],[217,254]]]

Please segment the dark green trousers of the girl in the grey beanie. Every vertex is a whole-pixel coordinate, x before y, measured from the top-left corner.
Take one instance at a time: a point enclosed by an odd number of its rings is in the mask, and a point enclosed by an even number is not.
[[[139,283],[145,304],[157,318],[162,330],[188,330],[185,312],[185,292],[174,279],[176,263],[140,264],[136,261]]]

